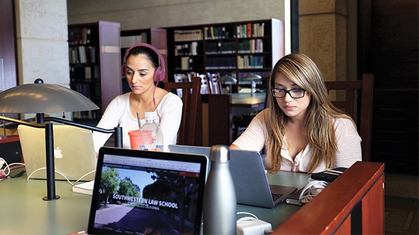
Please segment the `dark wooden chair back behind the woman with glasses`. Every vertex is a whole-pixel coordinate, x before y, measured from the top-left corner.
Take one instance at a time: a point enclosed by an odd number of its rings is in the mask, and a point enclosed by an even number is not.
[[[357,120],[358,132],[362,138],[362,160],[369,161],[371,153],[371,121],[373,118],[373,90],[374,90],[374,75],[363,74],[362,80],[356,81],[333,81],[324,82],[329,90],[345,90],[344,101],[332,101],[339,109],[343,109],[348,115],[352,116],[354,120],[358,114],[360,117]],[[358,113],[354,112],[354,104],[356,102],[355,90],[358,90],[358,97],[360,98],[361,107],[357,108]],[[358,105],[357,105],[358,107]]]

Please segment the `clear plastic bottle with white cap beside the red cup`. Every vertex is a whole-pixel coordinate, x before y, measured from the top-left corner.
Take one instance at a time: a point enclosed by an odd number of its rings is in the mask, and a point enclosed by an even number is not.
[[[163,134],[156,123],[155,112],[145,112],[146,124],[138,132],[140,150],[163,151]]]

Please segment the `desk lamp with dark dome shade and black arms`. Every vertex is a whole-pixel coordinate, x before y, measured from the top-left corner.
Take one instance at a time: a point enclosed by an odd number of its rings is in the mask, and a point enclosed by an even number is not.
[[[44,112],[74,112],[96,110],[99,107],[81,93],[56,84],[44,84],[38,78],[34,84],[24,84],[0,92],[0,113],[36,113],[37,124],[0,116],[0,120],[22,124],[35,128],[45,128],[45,159],[46,159],[46,185],[47,196],[43,200],[56,200],[55,195],[55,166],[54,166],[54,138],[53,124],[44,123],[53,121],[89,130],[114,133],[115,147],[122,148],[122,127],[102,129],[88,125],[74,123],[57,117],[44,117]]]

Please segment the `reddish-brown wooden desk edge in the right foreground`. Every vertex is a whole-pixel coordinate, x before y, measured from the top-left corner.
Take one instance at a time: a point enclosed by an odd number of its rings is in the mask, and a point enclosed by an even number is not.
[[[321,194],[299,209],[285,223],[277,227],[273,234],[334,233],[345,222],[346,218],[350,216],[351,210],[362,200],[371,187],[376,182],[384,182],[383,174],[384,163],[356,162],[323,190]],[[381,185],[378,186],[381,187]],[[379,197],[377,200],[382,200],[383,211],[384,189],[382,194],[379,194]],[[381,207],[380,204],[378,206]],[[384,219],[384,215],[382,219]],[[380,224],[380,226],[384,229],[384,220],[382,222],[383,224]],[[381,230],[381,228],[377,229]]]

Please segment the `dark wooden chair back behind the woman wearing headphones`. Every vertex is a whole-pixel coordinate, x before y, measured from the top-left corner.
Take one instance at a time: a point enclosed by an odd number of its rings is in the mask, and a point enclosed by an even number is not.
[[[166,82],[165,89],[176,91],[182,89],[182,120],[180,122],[177,144],[195,145],[199,136],[197,126],[201,117],[201,78],[193,77],[192,82]]]

